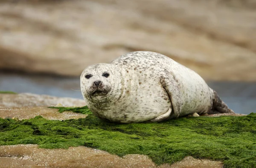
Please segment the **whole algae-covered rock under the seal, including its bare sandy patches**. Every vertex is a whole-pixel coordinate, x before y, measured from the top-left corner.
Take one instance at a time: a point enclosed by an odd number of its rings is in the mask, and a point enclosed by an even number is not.
[[[9,96],[9,101],[2,101],[3,95]],[[2,104],[21,106],[0,108],[2,167],[256,166],[255,113],[188,117],[163,123],[106,123],[93,116],[87,106],[36,106],[52,102],[47,96],[26,95],[33,104],[23,106],[29,104],[28,100],[22,101],[24,95],[0,94]],[[10,103],[12,98],[15,104]],[[53,100],[58,104],[58,98]]]

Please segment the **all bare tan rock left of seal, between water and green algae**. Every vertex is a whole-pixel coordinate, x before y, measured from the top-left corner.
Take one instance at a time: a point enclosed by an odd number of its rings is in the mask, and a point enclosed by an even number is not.
[[[0,118],[17,118],[18,120],[34,118],[41,115],[49,120],[67,120],[85,118],[74,112],[58,112],[47,106],[85,106],[84,100],[75,98],[58,98],[49,95],[31,93],[0,94]]]

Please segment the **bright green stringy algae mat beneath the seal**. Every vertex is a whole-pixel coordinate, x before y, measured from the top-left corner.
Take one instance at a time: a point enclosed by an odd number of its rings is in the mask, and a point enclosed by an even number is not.
[[[87,107],[68,110],[88,113]],[[255,168],[256,113],[132,124],[105,123],[91,114],[63,121],[41,116],[29,120],[0,118],[0,145],[15,144],[38,144],[41,148],[87,146],[119,156],[146,154],[157,164],[193,156],[220,160],[225,167]]]

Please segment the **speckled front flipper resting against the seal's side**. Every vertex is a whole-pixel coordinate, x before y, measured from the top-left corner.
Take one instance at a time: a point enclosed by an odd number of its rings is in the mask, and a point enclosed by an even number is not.
[[[173,116],[172,118],[177,118],[181,112],[181,92],[180,87],[177,81],[173,76],[166,74],[166,77],[162,77],[160,79],[162,87],[166,90],[169,95],[169,98],[172,101],[172,109],[173,109]]]

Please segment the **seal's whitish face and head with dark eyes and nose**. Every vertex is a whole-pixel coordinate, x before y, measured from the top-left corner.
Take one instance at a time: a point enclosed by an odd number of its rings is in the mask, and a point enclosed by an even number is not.
[[[113,99],[117,89],[117,70],[111,64],[94,64],[84,69],[80,76],[81,92],[89,103],[99,103]]]

